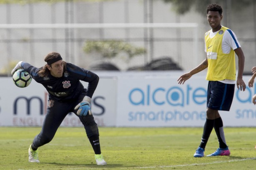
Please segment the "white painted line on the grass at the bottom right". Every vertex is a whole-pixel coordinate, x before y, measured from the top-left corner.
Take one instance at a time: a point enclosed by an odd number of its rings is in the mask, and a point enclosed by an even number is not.
[[[193,164],[185,164],[185,165],[170,165],[170,166],[151,166],[151,167],[133,167],[133,169],[149,169],[149,168],[175,168],[175,167],[186,167],[186,166],[195,166],[195,165],[211,165],[211,164],[218,164],[218,163],[231,163],[231,162],[239,162],[245,160],[256,160],[256,158],[244,158],[244,159],[233,159],[227,161],[215,161],[212,163],[193,163]],[[127,168],[121,168],[127,169]]]

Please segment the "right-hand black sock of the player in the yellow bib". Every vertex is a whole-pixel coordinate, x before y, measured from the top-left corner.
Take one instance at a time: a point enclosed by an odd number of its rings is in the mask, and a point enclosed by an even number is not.
[[[216,135],[218,137],[218,143],[220,145],[220,148],[226,148],[226,140],[225,140],[225,136],[224,136],[224,131],[223,131],[223,122],[221,117],[216,118],[214,121],[214,129],[216,132]]]

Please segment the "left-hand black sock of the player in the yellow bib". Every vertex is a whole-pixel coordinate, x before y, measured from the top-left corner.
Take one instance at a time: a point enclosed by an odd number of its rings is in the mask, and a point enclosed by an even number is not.
[[[208,142],[208,139],[211,135],[211,131],[213,130],[213,125],[214,125],[214,120],[206,119],[206,122],[203,127],[203,136],[202,136],[199,147],[203,149],[206,147],[206,143]]]

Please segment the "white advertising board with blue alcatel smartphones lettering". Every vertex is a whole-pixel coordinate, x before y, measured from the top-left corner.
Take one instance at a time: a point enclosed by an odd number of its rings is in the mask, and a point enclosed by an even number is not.
[[[250,76],[244,76],[248,84]],[[165,78],[119,78],[116,126],[203,126],[206,120],[208,81],[193,76],[185,84],[178,76]],[[256,126],[256,93],[235,90],[231,110],[220,111],[225,126]]]

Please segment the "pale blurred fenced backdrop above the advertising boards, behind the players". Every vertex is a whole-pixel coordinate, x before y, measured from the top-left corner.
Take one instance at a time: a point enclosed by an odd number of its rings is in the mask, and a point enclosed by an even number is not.
[[[256,65],[256,3],[237,12],[228,2],[222,24],[236,33],[249,73]],[[162,0],[1,4],[0,73],[10,75],[18,61],[41,67],[52,51],[90,69],[192,69],[205,58],[210,27],[200,13],[178,15],[171,7]]]

